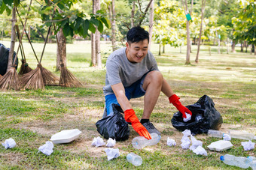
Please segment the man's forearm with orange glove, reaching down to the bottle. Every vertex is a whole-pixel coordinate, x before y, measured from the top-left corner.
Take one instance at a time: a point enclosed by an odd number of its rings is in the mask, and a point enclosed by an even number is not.
[[[139,122],[139,119],[132,109],[130,101],[125,95],[123,84],[120,82],[115,85],[111,85],[111,88],[117,97],[117,102],[120,104],[124,111],[124,119],[132,124],[133,129],[136,130],[140,136],[144,136],[146,139],[151,139],[151,134],[148,133],[148,130]]]

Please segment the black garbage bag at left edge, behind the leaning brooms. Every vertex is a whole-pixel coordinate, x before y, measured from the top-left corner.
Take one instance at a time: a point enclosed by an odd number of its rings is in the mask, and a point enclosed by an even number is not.
[[[8,67],[8,57],[9,57],[9,48],[6,48],[2,43],[0,43],[0,74],[2,76],[5,75],[7,67]],[[15,58],[16,52],[14,52],[13,55],[13,60]],[[18,67],[18,58],[15,61],[16,67],[15,69],[17,70]]]

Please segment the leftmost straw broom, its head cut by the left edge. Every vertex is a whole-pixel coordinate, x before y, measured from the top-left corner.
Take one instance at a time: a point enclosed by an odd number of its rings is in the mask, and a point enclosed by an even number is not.
[[[29,10],[30,10],[31,4],[32,4],[32,0],[30,0],[27,16],[29,15]],[[13,8],[13,19],[16,18],[15,8],[16,7]],[[18,49],[17,49],[17,53],[15,55],[14,61],[12,63],[12,66],[7,71],[7,73],[5,73],[5,75],[2,77],[2,79],[0,79],[0,89],[1,90],[11,90],[11,89],[14,89],[16,91],[20,90],[19,77],[18,77],[17,71],[15,69],[15,61],[17,60],[17,55],[18,55],[18,52],[19,52],[19,49],[20,49],[20,43],[21,43],[21,40],[23,38],[23,33],[25,31],[27,19],[28,19],[28,17],[26,17],[26,19],[25,19],[25,23],[24,23],[24,26],[23,26],[23,32],[22,32],[21,37],[20,37],[19,46],[18,46]],[[15,21],[13,21],[13,23],[15,23]],[[14,31],[15,31],[15,28],[14,28]]]

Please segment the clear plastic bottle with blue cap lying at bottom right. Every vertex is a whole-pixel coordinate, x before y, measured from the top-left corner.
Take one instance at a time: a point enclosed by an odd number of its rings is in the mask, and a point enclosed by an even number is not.
[[[247,157],[236,157],[230,154],[221,156],[220,159],[227,165],[237,166],[242,169],[248,169],[251,161]]]

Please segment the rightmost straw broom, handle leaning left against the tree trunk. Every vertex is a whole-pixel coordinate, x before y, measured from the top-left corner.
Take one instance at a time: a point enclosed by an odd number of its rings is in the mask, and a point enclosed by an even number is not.
[[[55,25],[54,26],[54,31],[56,32]],[[57,46],[59,49],[60,53],[60,77],[59,77],[59,85],[62,87],[67,87],[67,88],[78,88],[81,87],[81,82],[67,69],[66,65],[63,63],[63,58],[62,58],[62,52],[60,51],[59,48],[59,39],[56,34],[56,42]]]

